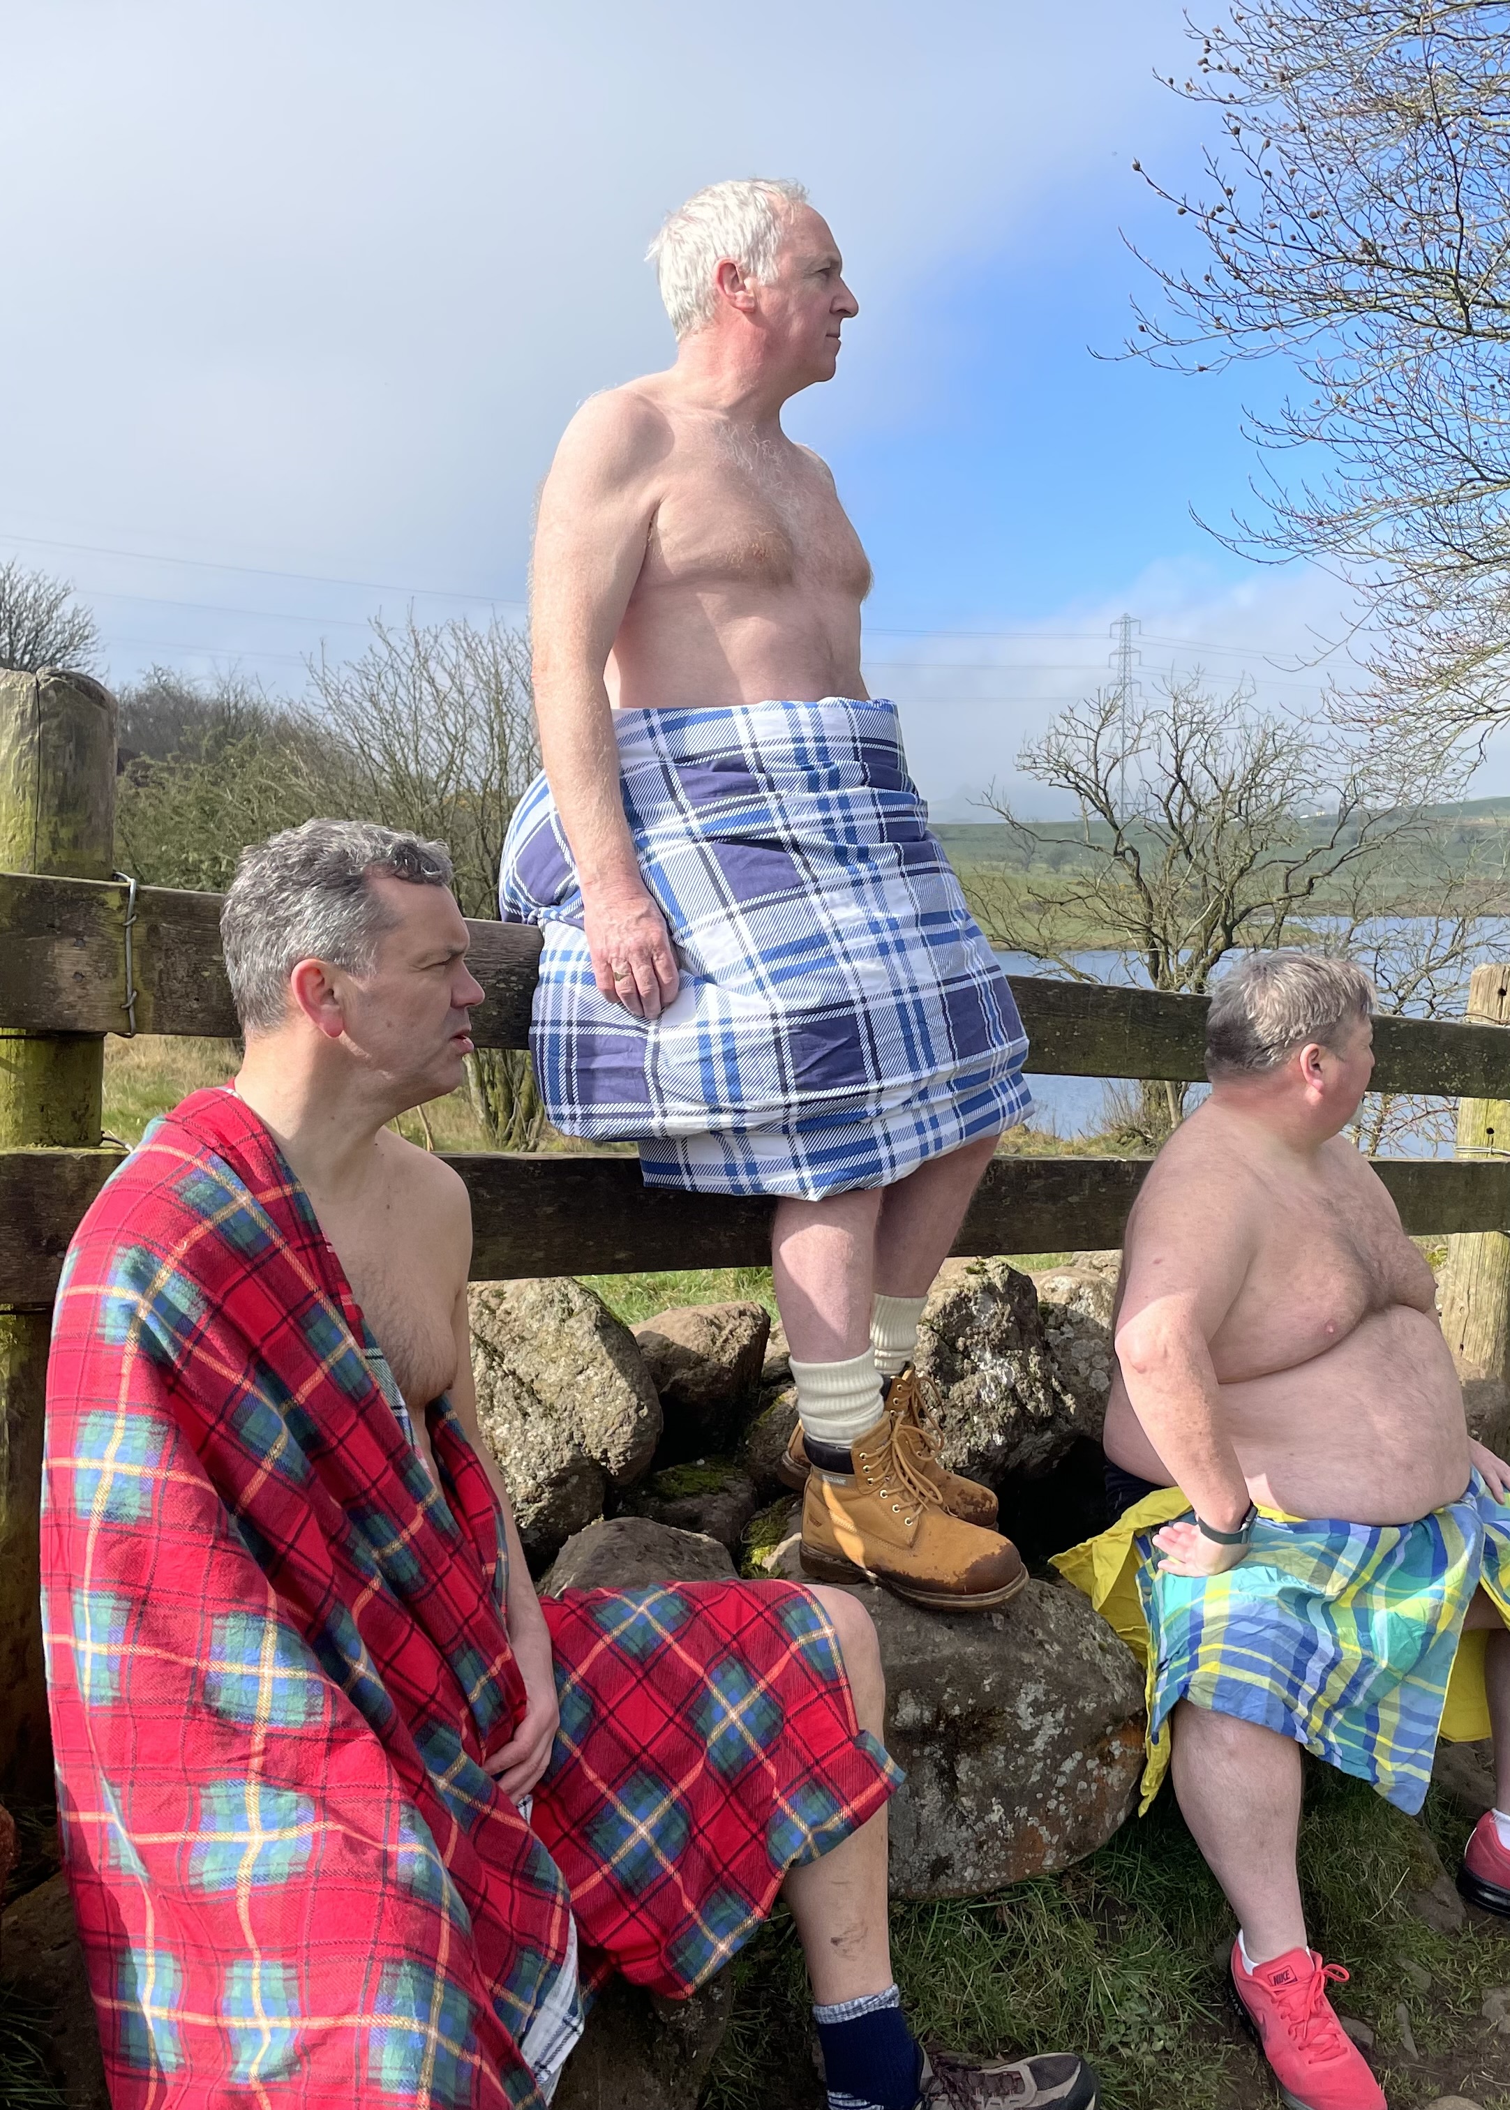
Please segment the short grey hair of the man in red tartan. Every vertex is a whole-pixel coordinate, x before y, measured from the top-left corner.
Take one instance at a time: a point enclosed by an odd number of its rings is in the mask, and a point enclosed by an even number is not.
[[[306,821],[240,852],[219,941],[243,1032],[283,1025],[299,960],[371,973],[378,939],[392,928],[367,884],[373,871],[411,886],[449,886],[451,852],[375,821]]]

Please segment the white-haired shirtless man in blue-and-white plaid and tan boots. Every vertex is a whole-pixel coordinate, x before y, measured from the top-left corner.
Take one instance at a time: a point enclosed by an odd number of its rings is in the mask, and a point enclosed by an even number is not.
[[[806,1572],[998,1606],[1023,1564],[936,1464],[911,1359],[1027,1042],[867,698],[865,551],[780,426],[856,300],[797,184],[715,184],[652,255],[677,361],[593,397],[540,498],[544,779],[502,907],[546,931],[542,1095],[650,1184],[780,1196]]]

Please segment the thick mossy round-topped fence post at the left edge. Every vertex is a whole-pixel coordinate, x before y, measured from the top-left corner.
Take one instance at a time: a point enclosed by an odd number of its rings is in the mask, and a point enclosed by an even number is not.
[[[0,871],[108,880],[116,705],[82,675],[0,673]],[[0,1150],[99,1148],[105,1042],[0,1023]],[[44,1802],[53,1745],[38,1616],[51,1304],[0,1306],[0,1798]]]

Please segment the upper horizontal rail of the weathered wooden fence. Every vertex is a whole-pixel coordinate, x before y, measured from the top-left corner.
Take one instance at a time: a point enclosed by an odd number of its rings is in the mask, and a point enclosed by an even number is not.
[[[219,956],[219,895],[137,890],[131,931],[135,1023],[143,1034],[232,1038]],[[540,933],[470,922],[468,964],[487,990],[479,1047],[529,1044]],[[1014,975],[1029,1074],[1202,1078],[1206,998]],[[36,1034],[127,1032],[127,886],[0,871],[0,1025]],[[1379,1091],[1510,1099],[1510,1034],[1449,1019],[1375,1019]],[[1023,1247],[1025,1249],[1025,1247]]]

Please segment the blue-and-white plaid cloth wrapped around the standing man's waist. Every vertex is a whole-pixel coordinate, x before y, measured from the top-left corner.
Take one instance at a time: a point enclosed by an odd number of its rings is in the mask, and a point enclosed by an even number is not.
[[[531,1051],[567,1135],[635,1137],[647,1186],[837,1194],[1023,1120],[1012,992],[928,831],[890,703],[616,711],[624,812],[681,992],[599,996],[544,776],[500,903],[544,926]]]

